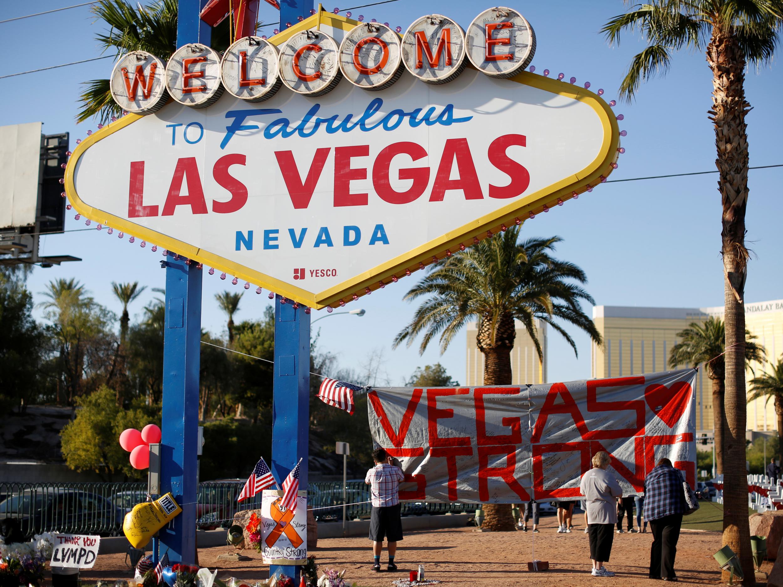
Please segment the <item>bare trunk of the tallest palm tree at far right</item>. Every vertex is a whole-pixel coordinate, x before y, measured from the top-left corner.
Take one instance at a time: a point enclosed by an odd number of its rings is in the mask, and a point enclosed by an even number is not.
[[[748,136],[745,112],[745,57],[734,31],[713,25],[707,47],[713,71],[713,110],[716,166],[723,204],[723,283],[726,322],[727,427],[723,443],[723,544],[738,554],[745,573],[744,585],[756,582],[750,551],[748,494],[745,486],[745,304],[748,250],[745,248],[745,207],[748,201]],[[723,573],[724,579],[728,578]]]

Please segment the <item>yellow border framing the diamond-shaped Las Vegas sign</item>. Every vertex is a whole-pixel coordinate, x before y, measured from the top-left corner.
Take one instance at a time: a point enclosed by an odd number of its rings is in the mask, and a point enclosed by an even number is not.
[[[320,8],[321,7],[319,6],[319,9]],[[359,22],[320,9],[319,12],[313,16],[302,20],[301,23],[289,27],[286,31],[276,34],[269,41],[275,45],[280,45],[299,31],[305,31],[310,28],[319,29],[322,24],[343,31],[349,31],[359,24]],[[468,67],[472,68],[473,66],[468,64]],[[615,114],[603,99],[585,88],[580,88],[576,85],[525,71],[514,77],[508,78],[508,80],[516,81],[519,84],[529,85],[532,88],[538,88],[552,94],[575,99],[590,106],[601,119],[601,125],[604,131],[604,141],[601,144],[598,156],[590,165],[585,167],[582,171],[579,171],[579,173],[563,178],[561,181],[549,185],[545,189],[540,189],[523,198],[514,200],[513,203],[509,203],[507,206],[501,207],[490,214],[485,214],[480,218],[476,218],[474,221],[468,222],[459,229],[446,232],[443,236],[432,239],[420,247],[416,247],[390,261],[377,265],[369,271],[355,275],[352,279],[348,279],[337,286],[332,286],[319,294],[313,294],[309,291],[302,290],[290,283],[280,281],[280,279],[274,279],[269,275],[254,271],[244,265],[229,261],[228,259],[212,254],[207,250],[200,249],[200,247],[194,247],[179,239],[165,236],[152,229],[137,225],[132,221],[119,218],[113,214],[101,211],[98,208],[88,206],[81,201],[78,193],[76,193],[74,185],[74,170],[77,167],[79,159],[90,146],[94,145],[99,140],[105,139],[112,133],[128,126],[128,124],[133,124],[135,121],[143,118],[143,116],[139,114],[128,113],[120,120],[107,124],[104,128],[89,135],[87,139],[83,140],[76,149],[74,149],[65,170],[65,192],[74,209],[79,214],[90,218],[92,221],[110,225],[114,229],[119,229],[123,232],[128,232],[129,235],[135,236],[136,238],[148,240],[150,243],[155,243],[160,247],[164,247],[172,253],[180,254],[204,265],[210,265],[218,271],[235,275],[239,279],[254,283],[257,286],[262,286],[268,290],[274,291],[276,294],[297,301],[300,304],[305,304],[316,309],[325,308],[326,306],[336,308],[341,302],[347,303],[355,299],[355,297],[365,295],[366,288],[373,291],[380,287],[381,282],[384,282],[384,284],[390,283],[392,275],[395,275],[397,278],[402,278],[406,276],[406,271],[417,271],[420,263],[428,265],[431,263],[433,256],[442,258],[446,255],[446,250],[458,250],[460,244],[469,247],[474,243],[474,239],[481,240],[486,238],[488,236],[488,231],[493,233],[498,232],[502,229],[503,225],[511,225],[516,221],[525,221],[526,218],[529,218],[529,214],[539,214],[545,207],[551,208],[556,205],[558,200],[565,202],[566,200],[571,199],[574,193],[583,193],[589,186],[597,185],[601,182],[601,176],[608,177],[608,175],[612,173],[612,162],[617,158],[620,136]]]

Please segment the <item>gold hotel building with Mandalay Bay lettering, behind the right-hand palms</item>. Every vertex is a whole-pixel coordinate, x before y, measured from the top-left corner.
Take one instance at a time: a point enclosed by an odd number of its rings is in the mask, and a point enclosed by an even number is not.
[[[590,375],[593,378],[654,373],[669,369],[669,351],[677,344],[677,333],[691,322],[708,316],[723,317],[717,308],[639,308],[631,306],[595,306],[593,321],[604,345],[592,344]],[[745,326],[756,342],[767,349],[767,358],[778,362],[783,353],[783,300],[745,304]],[[754,364],[756,375],[770,372],[770,365]],[[747,379],[753,374],[748,371]],[[705,369],[696,377],[696,429],[713,430],[712,384]],[[749,430],[777,430],[773,402],[764,399],[748,405]]]

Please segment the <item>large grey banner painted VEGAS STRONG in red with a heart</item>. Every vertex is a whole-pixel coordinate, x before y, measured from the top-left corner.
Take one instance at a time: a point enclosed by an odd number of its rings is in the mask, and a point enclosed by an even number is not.
[[[669,458],[695,486],[694,369],[521,387],[376,387],[376,445],[399,458],[401,499],[519,503],[579,496],[606,451],[628,494]]]

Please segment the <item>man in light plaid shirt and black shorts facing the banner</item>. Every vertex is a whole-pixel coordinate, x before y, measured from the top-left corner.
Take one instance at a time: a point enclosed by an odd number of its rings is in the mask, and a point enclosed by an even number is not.
[[[370,515],[370,540],[373,541],[373,571],[381,571],[381,550],[384,536],[388,544],[389,564],[387,571],[396,571],[394,564],[397,541],[402,540],[402,517],[399,505],[399,484],[405,474],[399,466],[392,464],[383,448],[373,450],[375,466],[367,471],[364,482],[370,485],[373,510]]]

